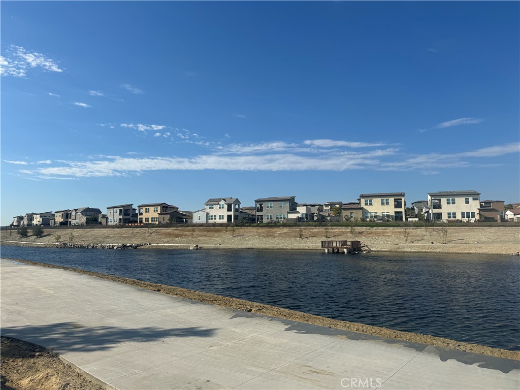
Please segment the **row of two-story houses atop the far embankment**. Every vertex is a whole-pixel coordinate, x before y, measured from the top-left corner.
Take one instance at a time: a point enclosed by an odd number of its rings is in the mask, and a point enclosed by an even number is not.
[[[259,198],[254,206],[241,207],[238,198],[211,198],[196,212],[179,211],[168,203],[132,203],[100,209],[80,207],[56,212],[28,213],[14,217],[13,226],[58,225],[163,225],[170,223],[270,223],[282,221],[313,222],[329,220],[448,222],[502,222],[520,220],[520,209],[504,210],[504,201],[480,200],[480,193],[468,191],[430,192],[426,200],[415,201],[407,209],[405,192],[362,193],[357,201],[298,203],[295,196]]]

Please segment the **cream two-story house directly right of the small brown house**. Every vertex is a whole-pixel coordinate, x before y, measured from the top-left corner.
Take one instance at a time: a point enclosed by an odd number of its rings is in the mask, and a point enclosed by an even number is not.
[[[358,201],[365,219],[402,221],[405,218],[404,192],[362,193]]]

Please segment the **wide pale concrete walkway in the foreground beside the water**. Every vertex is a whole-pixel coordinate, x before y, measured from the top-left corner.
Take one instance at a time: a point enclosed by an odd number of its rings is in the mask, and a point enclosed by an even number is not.
[[[2,259],[2,335],[118,389],[518,389],[517,361],[222,308]]]

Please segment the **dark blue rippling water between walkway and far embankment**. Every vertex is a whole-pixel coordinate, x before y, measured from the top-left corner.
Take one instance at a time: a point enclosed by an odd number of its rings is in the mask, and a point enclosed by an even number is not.
[[[518,256],[3,246],[2,257],[520,350]]]

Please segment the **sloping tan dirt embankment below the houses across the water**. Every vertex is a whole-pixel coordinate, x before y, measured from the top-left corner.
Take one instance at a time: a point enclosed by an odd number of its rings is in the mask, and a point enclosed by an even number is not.
[[[60,237],[58,237],[60,236]],[[520,228],[512,227],[168,227],[46,229],[20,238],[2,231],[4,245],[142,245],[140,248],[320,249],[322,240],[360,240],[373,251],[495,253],[520,251]]]

